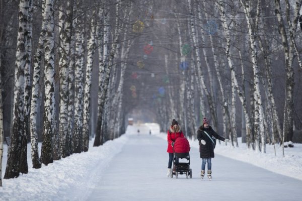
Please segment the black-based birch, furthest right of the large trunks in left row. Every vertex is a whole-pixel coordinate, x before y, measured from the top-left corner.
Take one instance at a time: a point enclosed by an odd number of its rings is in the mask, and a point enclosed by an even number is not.
[[[102,18],[102,15],[99,15]],[[105,69],[108,66],[108,43],[109,43],[109,13],[104,12],[104,41],[101,43],[100,37],[101,32],[99,32],[99,90],[98,90],[98,121],[96,129],[96,137],[93,146],[102,145],[101,139],[101,127],[103,120],[104,104],[105,104]],[[100,44],[103,44],[100,45]]]

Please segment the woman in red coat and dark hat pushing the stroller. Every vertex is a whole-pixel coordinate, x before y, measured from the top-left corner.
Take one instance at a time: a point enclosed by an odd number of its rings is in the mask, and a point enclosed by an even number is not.
[[[172,161],[173,161],[173,146],[174,146],[175,140],[179,137],[181,137],[181,138],[184,137],[184,134],[181,131],[180,126],[178,125],[178,122],[175,119],[172,120],[171,127],[169,128],[167,134],[168,134],[167,135],[167,140],[168,140],[167,152],[169,153],[167,176],[169,177],[171,174],[171,167],[172,167]]]

